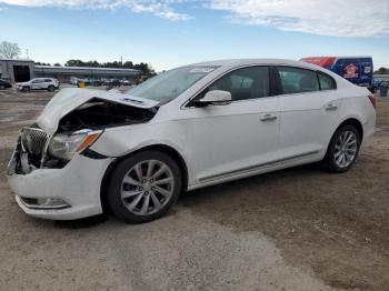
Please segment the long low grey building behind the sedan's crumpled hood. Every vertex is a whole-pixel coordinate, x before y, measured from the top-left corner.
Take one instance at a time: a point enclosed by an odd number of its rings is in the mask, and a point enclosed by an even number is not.
[[[71,78],[133,81],[140,76],[141,71],[134,69],[36,66],[32,60],[0,59],[0,78],[10,79],[11,82],[24,82],[40,77],[57,78],[60,82],[68,83]]]

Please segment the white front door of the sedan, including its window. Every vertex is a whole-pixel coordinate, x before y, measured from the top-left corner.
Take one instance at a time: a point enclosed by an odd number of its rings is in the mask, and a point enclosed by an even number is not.
[[[231,92],[232,102],[184,110],[189,142],[198,144],[196,179],[206,182],[276,161],[280,108],[278,97],[270,93],[269,68],[235,70],[198,98],[210,90]]]

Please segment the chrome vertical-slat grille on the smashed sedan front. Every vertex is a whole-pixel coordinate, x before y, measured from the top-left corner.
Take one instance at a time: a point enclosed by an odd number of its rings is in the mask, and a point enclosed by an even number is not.
[[[28,153],[39,159],[42,158],[49,139],[43,130],[39,128],[24,128],[20,137],[22,147]]]

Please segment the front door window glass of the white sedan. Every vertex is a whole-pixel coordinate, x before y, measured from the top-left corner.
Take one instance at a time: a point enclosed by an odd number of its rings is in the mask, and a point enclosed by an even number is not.
[[[229,91],[232,101],[268,97],[270,94],[269,68],[249,67],[235,70],[221,77],[208,90]]]

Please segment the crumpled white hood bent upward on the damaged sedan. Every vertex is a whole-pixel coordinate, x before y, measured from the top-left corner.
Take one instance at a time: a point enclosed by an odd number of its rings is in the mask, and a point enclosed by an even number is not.
[[[143,109],[153,108],[158,104],[157,101],[123,94],[118,90],[101,91],[66,88],[50,100],[43,112],[39,116],[37,123],[49,136],[53,136],[62,117],[93,98]]]

